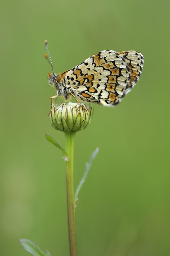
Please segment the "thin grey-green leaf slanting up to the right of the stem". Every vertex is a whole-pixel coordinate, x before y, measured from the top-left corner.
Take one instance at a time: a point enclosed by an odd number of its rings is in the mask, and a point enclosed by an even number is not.
[[[77,189],[76,189],[76,192],[75,192],[75,197],[74,197],[74,205],[76,205],[76,202],[78,200],[78,194],[80,192],[80,189],[83,185],[83,183],[85,182],[86,180],[86,177],[87,177],[87,174],[90,170],[90,167],[92,165],[92,162],[93,162],[93,159],[96,157],[97,153],[99,152],[99,148],[96,148],[95,151],[92,153],[92,155],[90,156],[90,159],[88,161],[88,163],[86,163],[86,166],[85,166],[85,170],[84,170],[84,173],[83,173],[83,177],[81,178],[81,181],[80,183],[78,184],[77,186]]]

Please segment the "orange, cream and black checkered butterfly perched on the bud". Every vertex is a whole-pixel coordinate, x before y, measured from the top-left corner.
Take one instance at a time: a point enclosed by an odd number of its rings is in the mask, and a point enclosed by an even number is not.
[[[51,61],[47,47],[45,46]],[[48,81],[55,87],[56,95],[68,99],[72,95],[78,103],[87,101],[104,106],[117,105],[139,80],[144,58],[140,52],[117,53],[104,50],[86,59],[62,74],[48,72]]]

